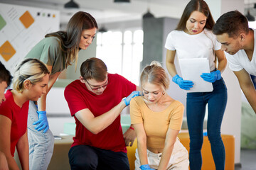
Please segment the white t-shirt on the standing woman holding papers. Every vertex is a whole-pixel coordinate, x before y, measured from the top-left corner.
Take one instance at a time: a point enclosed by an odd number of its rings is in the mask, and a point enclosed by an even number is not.
[[[208,29],[196,35],[187,34],[183,30],[173,30],[166,38],[165,47],[168,50],[176,50],[178,59],[207,58],[210,71],[213,71],[215,69],[213,50],[220,50],[221,44]]]

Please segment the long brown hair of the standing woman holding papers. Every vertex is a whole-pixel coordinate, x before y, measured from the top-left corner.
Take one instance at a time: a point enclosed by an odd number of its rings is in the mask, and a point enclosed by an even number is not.
[[[181,20],[178,22],[178,26],[176,27],[176,30],[185,30],[186,29],[186,21],[188,21],[189,16],[191,16],[191,13],[193,11],[199,11],[203,13],[207,19],[206,19],[206,26],[204,28],[208,28],[209,30],[213,29],[214,20],[213,16],[210,13],[210,8],[203,0],[191,0],[186,5]]]

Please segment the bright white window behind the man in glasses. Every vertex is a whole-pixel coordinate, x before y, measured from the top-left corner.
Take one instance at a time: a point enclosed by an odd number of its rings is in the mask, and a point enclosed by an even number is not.
[[[107,64],[108,72],[120,74],[137,85],[142,52],[142,30],[110,30],[106,33],[97,33],[97,58]]]

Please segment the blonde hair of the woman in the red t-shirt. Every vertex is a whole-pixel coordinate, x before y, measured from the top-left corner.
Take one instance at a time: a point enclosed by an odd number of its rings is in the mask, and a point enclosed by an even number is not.
[[[23,60],[14,72],[14,89],[18,92],[23,91],[23,82],[31,81],[31,84],[40,82],[46,74],[50,74],[43,62],[37,59]]]

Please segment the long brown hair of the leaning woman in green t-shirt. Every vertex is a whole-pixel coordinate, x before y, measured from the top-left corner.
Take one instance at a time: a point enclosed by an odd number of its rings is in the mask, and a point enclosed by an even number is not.
[[[71,62],[75,61],[76,68],[82,30],[92,28],[98,28],[95,18],[90,13],[79,11],[68,21],[66,31],[58,31],[46,35],[46,38],[53,36],[60,40],[60,49],[67,54],[65,67],[68,67],[68,65],[71,65]]]

